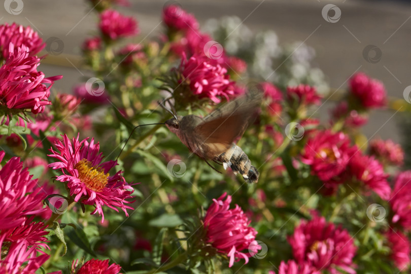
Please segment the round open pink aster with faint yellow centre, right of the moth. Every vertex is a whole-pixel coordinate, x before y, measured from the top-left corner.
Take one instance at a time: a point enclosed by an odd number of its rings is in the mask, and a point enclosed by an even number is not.
[[[311,173],[326,182],[346,169],[356,150],[344,133],[318,130],[305,144],[302,162],[311,165]]]

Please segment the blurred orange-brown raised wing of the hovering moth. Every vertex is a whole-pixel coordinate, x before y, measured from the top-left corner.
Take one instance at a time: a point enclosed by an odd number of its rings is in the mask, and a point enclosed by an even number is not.
[[[258,91],[238,97],[204,117],[194,131],[204,144],[215,149],[214,154],[221,154],[243,135],[254,120],[261,100],[262,93]]]

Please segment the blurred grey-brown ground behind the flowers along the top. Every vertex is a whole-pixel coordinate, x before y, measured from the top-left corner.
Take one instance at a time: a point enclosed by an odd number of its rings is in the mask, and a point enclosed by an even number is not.
[[[130,7],[119,7],[119,10],[139,21],[141,34],[133,42],[144,42],[148,37],[159,35],[163,27],[161,12],[166,2],[130,2]],[[92,76],[82,65],[80,54],[84,39],[97,31],[96,14],[84,0],[23,3],[19,14],[2,12],[1,22],[31,25],[40,33],[48,44],[44,53],[49,53],[41,64],[41,70],[48,76],[63,75],[54,87],[59,92],[71,93],[76,83]],[[329,100],[315,113],[320,119],[328,115],[329,108],[338,101],[339,94],[347,88],[347,80],[354,73],[361,71],[381,80],[391,99],[400,99],[405,107],[396,105],[375,111],[363,130],[367,138],[381,136],[383,139],[401,141],[401,130],[408,128],[401,117],[404,117],[404,110],[409,105],[404,100],[403,92],[411,85],[409,3],[352,0],[179,0],[178,3],[195,15],[203,30],[215,30],[217,21],[209,19],[230,16],[225,18],[225,23],[231,24],[232,29],[232,35],[229,33],[227,39],[236,36],[237,41],[241,41],[243,35],[249,39],[246,32],[270,30],[273,32],[270,32],[270,39],[265,43],[271,43],[273,49],[293,46],[294,50],[288,51],[286,59],[309,58],[310,65],[323,72],[320,77],[324,82],[322,88],[327,91],[327,85],[329,87]],[[328,11],[328,17],[327,13],[322,14],[327,4],[337,6],[340,17],[335,9]],[[11,5],[17,4],[14,2]],[[62,43],[53,43],[55,38]],[[235,41],[232,43],[235,44]],[[301,57],[298,54],[310,56]]]

